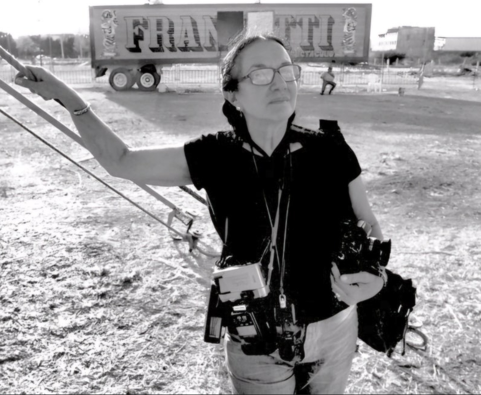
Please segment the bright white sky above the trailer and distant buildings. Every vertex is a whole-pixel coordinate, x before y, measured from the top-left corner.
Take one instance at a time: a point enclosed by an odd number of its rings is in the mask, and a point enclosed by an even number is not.
[[[289,3],[260,0],[262,3]],[[89,5],[145,4],[147,0],[0,0],[0,31],[14,38],[34,34],[88,33]],[[255,0],[164,0],[177,3],[252,3]],[[322,1],[302,0],[302,3]],[[397,26],[434,26],[439,37],[481,37],[481,1],[334,0],[326,3],[371,3],[371,40]],[[441,5],[446,4],[446,5]]]

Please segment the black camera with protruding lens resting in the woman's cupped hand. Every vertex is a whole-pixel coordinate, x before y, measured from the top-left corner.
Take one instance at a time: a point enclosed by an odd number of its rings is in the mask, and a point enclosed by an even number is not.
[[[346,219],[340,223],[340,237],[333,262],[340,274],[367,271],[380,276],[391,254],[391,240],[380,241],[369,237],[371,226],[365,221]]]

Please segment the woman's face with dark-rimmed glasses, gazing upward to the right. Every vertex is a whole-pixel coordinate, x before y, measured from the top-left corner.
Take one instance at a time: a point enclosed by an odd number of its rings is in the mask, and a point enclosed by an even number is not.
[[[263,67],[291,65],[287,51],[272,40],[258,40],[246,46],[236,59],[234,76],[241,80]],[[287,122],[297,99],[297,81],[285,82],[276,72],[269,85],[253,85],[250,78],[239,82],[232,104],[240,107],[246,119]]]

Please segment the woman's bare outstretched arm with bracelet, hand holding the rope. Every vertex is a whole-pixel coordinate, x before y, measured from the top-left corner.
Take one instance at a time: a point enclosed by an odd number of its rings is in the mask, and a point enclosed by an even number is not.
[[[190,180],[183,146],[130,149],[91,109],[74,115],[87,103],[72,88],[42,67],[28,66],[37,81],[17,75],[15,83],[39,94],[43,99],[60,99],[70,112],[85,148],[112,176],[149,185],[187,185]]]

